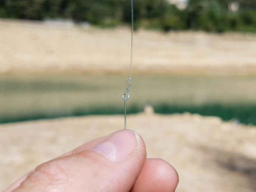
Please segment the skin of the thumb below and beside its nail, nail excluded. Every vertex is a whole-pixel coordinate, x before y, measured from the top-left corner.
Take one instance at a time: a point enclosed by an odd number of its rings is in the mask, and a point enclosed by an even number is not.
[[[121,161],[83,150],[43,163],[14,192],[130,191],[146,158],[144,141],[139,141],[139,148]]]

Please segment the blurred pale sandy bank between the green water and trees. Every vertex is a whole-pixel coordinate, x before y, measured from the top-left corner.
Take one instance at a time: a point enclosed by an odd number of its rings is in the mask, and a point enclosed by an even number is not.
[[[0,73],[121,71],[130,63],[130,29],[54,27],[0,20]],[[134,70],[256,73],[256,35],[203,32],[134,33]],[[193,67],[191,69],[191,67]]]

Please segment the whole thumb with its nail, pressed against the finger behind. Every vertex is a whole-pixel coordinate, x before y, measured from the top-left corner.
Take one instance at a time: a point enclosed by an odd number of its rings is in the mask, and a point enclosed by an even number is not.
[[[14,191],[127,192],[145,158],[145,143],[137,132],[114,132],[91,150],[41,164]]]

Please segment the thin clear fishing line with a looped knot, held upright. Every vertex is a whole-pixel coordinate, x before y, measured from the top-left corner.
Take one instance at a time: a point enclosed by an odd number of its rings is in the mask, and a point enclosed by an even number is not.
[[[131,63],[130,63],[130,78],[126,80],[126,89],[123,94],[124,99],[124,129],[126,129],[126,100],[130,98],[130,87],[132,81],[132,67],[133,67],[133,0],[131,0],[132,7],[132,41],[131,41]]]

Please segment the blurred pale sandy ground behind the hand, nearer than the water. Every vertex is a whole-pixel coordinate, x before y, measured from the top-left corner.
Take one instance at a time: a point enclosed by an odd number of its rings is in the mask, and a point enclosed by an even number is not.
[[[191,114],[128,116],[148,157],[178,171],[180,191],[256,191],[256,129]],[[0,190],[39,163],[123,128],[123,116],[87,116],[0,125]]]

